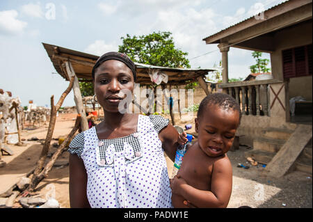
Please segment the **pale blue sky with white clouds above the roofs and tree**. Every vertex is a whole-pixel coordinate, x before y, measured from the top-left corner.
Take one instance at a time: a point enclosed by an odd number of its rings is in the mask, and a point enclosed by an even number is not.
[[[170,31],[191,68],[212,68],[221,54],[202,40],[285,0],[0,1],[0,88],[22,105],[55,103],[68,82],[56,73],[42,42],[101,56],[121,37]],[[229,78],[245,78],[252,51],[231,47]],[[269,54],[263,54],[269,58]],[[74,106],[71,92],[63,106]]]

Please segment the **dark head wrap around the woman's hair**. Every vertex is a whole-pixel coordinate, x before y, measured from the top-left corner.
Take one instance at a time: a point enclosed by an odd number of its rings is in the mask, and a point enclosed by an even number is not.
[[[107,61],[107,60],[118,60],[118,61],[121,61],[122,63],[125,63],[125,65],[127,65],[128,68],[131,69],[131,72],[133,72],[134,81],[136,81],[135,63],[131,61],[131,59],[127,56],[127,54],[123,54],[117,51],[107,52],[106,54],[103,54],[102,56],[98,58],[95,65],[93,66],[93,72],[92,72],[93,79],[95,78],[95,70],[99,67],[99,65],[101,65],[102,63],[104,63],[104,61]]]

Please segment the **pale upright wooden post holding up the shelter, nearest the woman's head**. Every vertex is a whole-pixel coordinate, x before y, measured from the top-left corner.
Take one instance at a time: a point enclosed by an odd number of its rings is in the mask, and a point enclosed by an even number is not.
[[[88,127],[88,121],[86,117],[86,112],[83,109],[83,98],[81,97],[81,90],[79,88],[79,80],[74,72],[74,68],[72,67],[72,64],[70,61],[65,62],[66,72],[71,79],[71,77],[74,77],[74,83],[73,83],[73,92],[74,92],[74,101],[76,104],[77,113],[81,115],[81,131],[85,131],[89,129]]]

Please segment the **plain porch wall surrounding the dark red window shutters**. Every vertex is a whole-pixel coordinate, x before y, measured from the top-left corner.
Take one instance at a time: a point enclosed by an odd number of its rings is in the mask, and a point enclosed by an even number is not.
[[[274,38],[275,51],[271,53],[272,73],[275,79],[283,80],[282,50],[312,44],[312,19],[278,31]],[[312,76],[291,78],[288,93],[289,98],[303,96],[307,100],[312,100]]]

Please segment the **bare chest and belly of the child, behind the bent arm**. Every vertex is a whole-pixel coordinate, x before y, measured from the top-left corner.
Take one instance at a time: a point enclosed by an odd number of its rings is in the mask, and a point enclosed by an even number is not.
[[[223,155],[223,157],[225,157]],[[180,175],[187,184],[195,189],[204,191],[211,190],[211,173],[214,162],[223,157],[209,157],[200,149],[198,143],[189,148],[184,154],[182,166],[177,175]],[[175,193],[172,193],[172,205],[175,208],[187,207],[184,205],[184,199]]]

